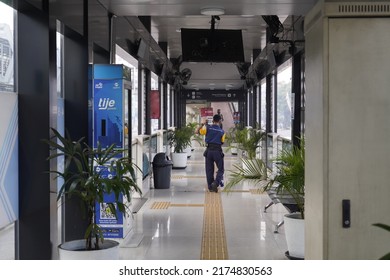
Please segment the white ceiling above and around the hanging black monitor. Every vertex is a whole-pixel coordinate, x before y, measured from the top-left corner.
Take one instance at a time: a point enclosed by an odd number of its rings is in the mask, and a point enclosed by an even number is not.
[[[278,15],[283,23],[288,15],[305,15],[318,0],[100,0],[117,16],[151,16],[151,34],[157,42],[168,43],[168,57],[181,54],[181,28],[209,29],[211,16],[203,16],[205,7],[220,7],[225,14],[216,29],[241,29],[246,62],[252,62],[254,49],[265,46],[266,23],[262,15]],[[240,88],[237,67],[232,63],[186,63],[180,70],[192,70],[187,88]]]

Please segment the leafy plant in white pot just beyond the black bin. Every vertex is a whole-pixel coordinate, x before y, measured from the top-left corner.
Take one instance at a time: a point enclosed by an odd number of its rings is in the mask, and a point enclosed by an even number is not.
[[[191,145],[193,134],[193,129],[190,126],[168,131],[168,143],[173,148],[173,168],[184,169],[187,167],[187,153],[185,149]]]

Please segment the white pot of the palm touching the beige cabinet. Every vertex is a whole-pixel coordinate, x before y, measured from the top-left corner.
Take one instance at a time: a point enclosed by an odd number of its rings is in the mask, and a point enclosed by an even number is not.
[[[305,257],[305,220],[300,213],[284,215],[284,230],[290,257],[303,259]]]

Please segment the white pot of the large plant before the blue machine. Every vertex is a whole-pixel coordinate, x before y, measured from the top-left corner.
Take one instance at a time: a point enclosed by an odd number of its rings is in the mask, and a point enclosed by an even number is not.
[[[119,243],[104,240],[100,250],[85,251],[85,240],[65,242],[58,246],[60,260],[119,260]]]

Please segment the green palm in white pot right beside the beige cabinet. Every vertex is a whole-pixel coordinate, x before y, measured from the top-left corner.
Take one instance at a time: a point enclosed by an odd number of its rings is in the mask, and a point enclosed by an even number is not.
[[[286,252],[291,258],[304,258],[305,218],[305,143],[301,138],[298,146],[283,148],[275,159],[277,172],[270,178],[265,190],[276,186],[276,194],[287,194],[293,198],[296,212],[284,216],[287,240]],[[283,203],[283,201],[281,201]]]

